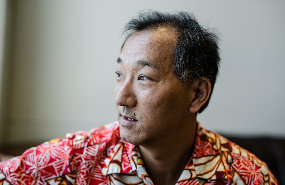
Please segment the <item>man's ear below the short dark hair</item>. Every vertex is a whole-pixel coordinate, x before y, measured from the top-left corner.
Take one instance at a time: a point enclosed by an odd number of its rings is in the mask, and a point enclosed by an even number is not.
[[[194,94],[195,97],[192,99],[190,104],[189,112],[196,113],[200,108],[208,101],[212,86],[209,79],[203,77],[200,80],[195,80],[194,85]]]

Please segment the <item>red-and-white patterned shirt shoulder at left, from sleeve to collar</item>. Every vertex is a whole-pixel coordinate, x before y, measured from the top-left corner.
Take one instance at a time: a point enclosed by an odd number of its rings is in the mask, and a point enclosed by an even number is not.
[[[119,140],[117,122],[68,133],[65,138],[52,139],[1,162],[0,184],[50,184],[58,178],[85,179],[92,173],[96,183],[103,182],[106,177],[100,169]]]

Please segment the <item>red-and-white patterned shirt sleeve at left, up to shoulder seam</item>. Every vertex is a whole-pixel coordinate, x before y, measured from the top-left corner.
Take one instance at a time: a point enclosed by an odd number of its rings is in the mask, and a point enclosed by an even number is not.
[[[30,148],[0,163],[0,184],[48,184],[48,179],[73,170],[73,152],[71,138],[53,139]]]

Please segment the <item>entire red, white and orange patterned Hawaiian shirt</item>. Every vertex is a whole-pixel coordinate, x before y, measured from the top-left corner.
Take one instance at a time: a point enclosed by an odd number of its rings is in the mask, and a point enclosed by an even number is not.
[[[163,154],[162,154],[163,155]],[[153,185],[139,147],[121,140],[113,122],[69,133],[0,163],[0,185]],[[267,165],[198,123],[193,154],[176,185],[277,185]]]

